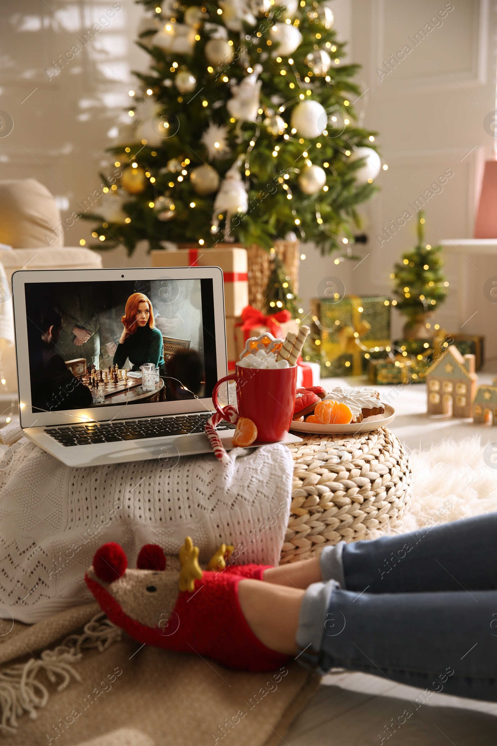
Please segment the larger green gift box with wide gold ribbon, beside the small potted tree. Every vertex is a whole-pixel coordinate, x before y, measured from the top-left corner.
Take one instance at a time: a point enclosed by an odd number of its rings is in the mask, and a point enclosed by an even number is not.
[[[346,295],[341,301],[312,301],[311,313],[320,336],[326,375],[361,375],[364,354],[390,346],[390,298]]]

